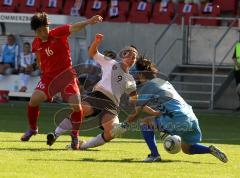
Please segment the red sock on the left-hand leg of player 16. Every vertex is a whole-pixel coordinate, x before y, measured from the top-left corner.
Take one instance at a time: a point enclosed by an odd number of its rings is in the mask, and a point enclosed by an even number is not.
[[[39,106],[32,107],[28,105],[28,124],[30,129],[37,130],[37,120],[39,114]]]

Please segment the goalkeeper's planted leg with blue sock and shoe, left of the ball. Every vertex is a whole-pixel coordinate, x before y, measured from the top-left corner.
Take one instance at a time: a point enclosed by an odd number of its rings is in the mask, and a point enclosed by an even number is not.
[[[145,162],[161,161],[161,157],[157,149],[157,142],[156,142],[155,133],[154,133],[154,129],[156,128],[154,118],[155,117],[146,117],[142,119],[140,123],[140,128],[141,128],[143,138],[151,152],[147,156],[147,158],[144,160]]]

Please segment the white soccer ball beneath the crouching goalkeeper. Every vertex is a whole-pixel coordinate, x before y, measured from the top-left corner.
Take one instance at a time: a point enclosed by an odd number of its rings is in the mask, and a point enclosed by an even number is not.
[[[177,154],[181,151],[181,137],[177,135],[168,135],[163,140],[164,149],[170,154]]]

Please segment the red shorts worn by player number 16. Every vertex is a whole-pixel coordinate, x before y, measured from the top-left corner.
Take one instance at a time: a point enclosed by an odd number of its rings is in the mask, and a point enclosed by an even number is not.
[[[80,96],[78,80],[70,70],[63,72],[54,79],[42,77],[35,89],[43,91],[50,102],[57,93],[61,93],[64,101],[68,101],[68,98],[72,95]]]

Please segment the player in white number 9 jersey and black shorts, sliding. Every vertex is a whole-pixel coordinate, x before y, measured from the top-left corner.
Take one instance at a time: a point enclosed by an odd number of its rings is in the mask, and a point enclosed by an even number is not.
[[[97,147],[113,139],[110,131],[119,123],[118,110],[120,97],[126,93],[134,101],[137,98],[136,83],[129,69],[135,64],[138,51],[134,46],[127,46],[119,53],[120,62],[105,57],[98,52],[103,40],[102,34],[96,34],[89,48],[90,58],[97,61],[102,68],[102,78],[93,91],[82,99],[83,117],[99,115],[103,133],[87,142],[80,143],[80,149]],[[58,136],[71,129],[71,122],[65,118],[56,128],[55,133],[47,135],[47,144],[52,145]]]

